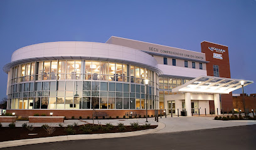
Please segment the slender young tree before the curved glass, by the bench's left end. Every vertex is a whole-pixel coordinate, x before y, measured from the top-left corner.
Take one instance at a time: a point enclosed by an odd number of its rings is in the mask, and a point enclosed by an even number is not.
[[[92,124],[94,125],[94,114],[96,113],[95,109],[99,109],[99,88],[100,88],[100,83],[93,81],[92,82]]]

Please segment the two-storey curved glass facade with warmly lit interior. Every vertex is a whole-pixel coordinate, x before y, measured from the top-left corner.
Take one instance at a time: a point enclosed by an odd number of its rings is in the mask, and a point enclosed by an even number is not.
[[[11,73],[9,109],[145,109],[146,99],[154,109],[159,99],[157,74],[131,64],[39,61]]]

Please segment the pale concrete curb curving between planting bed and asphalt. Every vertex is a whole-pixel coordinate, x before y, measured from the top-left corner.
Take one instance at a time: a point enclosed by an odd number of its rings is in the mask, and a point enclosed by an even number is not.
[[[143,134],[151,134],[165,128],[164,123],[158,123],[155,129],[146,129],[142,131],[134,131],[127,133],[105,133],[105,134],[80,134],[68,136],[54,136],[48,138],[35,138],[35,139],[19,139],[14,141],[0,142],[0,148],[8,148],[13,146],[23,146],[28,144],[51,143],[60,141],[80,140],[80,139],[107,139],[107,138],[124,138],[129,136],[140,136]]]

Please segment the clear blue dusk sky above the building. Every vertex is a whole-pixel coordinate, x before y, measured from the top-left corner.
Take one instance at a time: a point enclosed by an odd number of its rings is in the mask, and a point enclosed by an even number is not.
[[[0,99],[11,54],[41,42],[125,37],[201,52],[228,46],[231,76],[256,82],[256,1],[0,1]],[[238,89],[233,93],[242,93]],[[245,87],[256,93],[256,84]]]

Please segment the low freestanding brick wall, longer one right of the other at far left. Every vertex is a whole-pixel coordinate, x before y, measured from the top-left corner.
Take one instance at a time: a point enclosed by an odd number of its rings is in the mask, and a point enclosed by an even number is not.
[[[29,123],[64,123],[64,117],[29,117]]]

